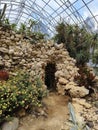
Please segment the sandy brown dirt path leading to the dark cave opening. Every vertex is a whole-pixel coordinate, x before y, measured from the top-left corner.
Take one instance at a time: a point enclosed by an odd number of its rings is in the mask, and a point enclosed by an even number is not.
[[[67,130],[65,122],[69,118],[67,96],[50,93],[43,99],[46,106],[42,116],[28,115],[20,120],[18,130]]]

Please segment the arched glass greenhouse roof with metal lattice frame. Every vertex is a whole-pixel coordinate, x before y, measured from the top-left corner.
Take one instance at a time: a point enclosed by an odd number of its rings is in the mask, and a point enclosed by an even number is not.
[[[5,4],[5,17],[10,23],[27,24],[33,19],[44,32],[54,33],[57,23],[63,20],[97,31],[98,0],[0,0],[1,11]]]

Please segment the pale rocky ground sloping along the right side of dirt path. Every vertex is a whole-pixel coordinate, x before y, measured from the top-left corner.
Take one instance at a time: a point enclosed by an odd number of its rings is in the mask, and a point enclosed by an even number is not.
[[[86,99],[73,98],[72,104],[76,117],[82,118],[91,130],[98,130],[97,108],[86,101]],[[77,118],[79,120],[79,118]]]

